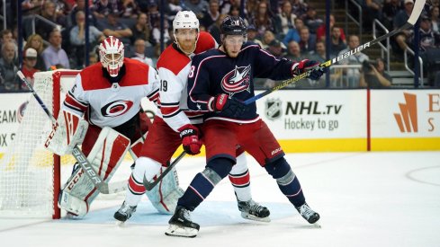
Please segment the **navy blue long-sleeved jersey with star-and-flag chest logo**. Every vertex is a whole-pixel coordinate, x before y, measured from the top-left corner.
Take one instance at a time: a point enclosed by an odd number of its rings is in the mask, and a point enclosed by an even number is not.
[[[193,57],[188,75],[188,108],[207,112],[204,119],[223,119],[234,122],[253,122],[258,119],[256,103],[249,105],[238,119],[211,109],[213,97],[227,93],[238,101],[253,97],[254,77],[284,80],[292,77],[291,60],[277,59],[253,42],[247,42],[238,57],[228,57],[220,49],[210,49]]]

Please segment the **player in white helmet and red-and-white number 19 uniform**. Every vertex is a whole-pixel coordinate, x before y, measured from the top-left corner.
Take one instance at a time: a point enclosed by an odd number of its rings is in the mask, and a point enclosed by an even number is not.
[[[186,106],[186,84],[188,75],[192,75],[191,57],[208,49],[217,47],[217,43],[208,32],[199,31],[199,21],[191,11],[181,11],[175,15],[173,22],[175,43],[168,46],[157,61],[157,72],[160,78],[159,112],[148,132],[148,138],[142,148],[139,159],[130,176],[129,190],[121,208],[114,214],[120,221],[126,221],[139,203],[145,192],[143,179],[152,181],[160,172],[161,164],[168,161],[180,146],[188,154],[199,154],[202,142],[199,140],[198,126],[202,124],[202,114],[188,111]],[[243,150],[235,151],[238,164],[229,172],[241,216],[269,221],[269,210],[256,203],[250,193],[249,172]],[[158,187],[158,186],[157,186]],[[180,188],[179,188],[180,189]],[[175,190],[168,198],[175,200],[183,195],[183,190]],[[173,208],[164,207],[164,211],[173,213]]]

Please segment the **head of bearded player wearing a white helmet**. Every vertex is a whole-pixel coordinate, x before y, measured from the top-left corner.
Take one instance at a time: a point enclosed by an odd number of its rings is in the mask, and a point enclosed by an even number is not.
[[[179,35],[179,29],[195,30],[195,33],[188,31]],[[197,19],[197,16],[192,11],[179,11],[175,14],[173,32],[177,47],[189,55],[194,52],[197,40],[199,39],[199,19]]]

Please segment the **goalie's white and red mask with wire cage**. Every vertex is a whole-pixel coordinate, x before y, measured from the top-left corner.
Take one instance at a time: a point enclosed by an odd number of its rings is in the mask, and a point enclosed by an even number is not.
[[[118,76],[124,64],[124,44],[121,40],[109,36],[99,45],[99,57],[110,76]]]

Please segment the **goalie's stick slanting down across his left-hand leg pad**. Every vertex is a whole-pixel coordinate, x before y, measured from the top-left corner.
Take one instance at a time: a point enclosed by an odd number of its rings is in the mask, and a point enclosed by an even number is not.
[[[24,84],[29,88],[33,96],[35,97],[35,100],[37,100],[41,106],[41,108],[46,112],[49,119],[52,121],[53,124],[57,122],[57,119],[55,119],[50,113],[49,109],[46,107],[46,104],[41,100],[40,96],[35,92],[32,85],[29,83],[29,81],[26,79],[26,77],[22,74],[22,71],[18,71],[17,75],[22,79]],[[85,157],[85,154],[79,149],[78,146],[74,146],[72,155],[75,157],[76,162],[83,168],[83,171],[85,172],[85,175],[90,179],[90,181],[93,182],[94,187],[99,190],[103,194],[110,194],[109,185],[105,181],[101,179],[101,177],[98,175],[98,173],[94,170],[92,165],[88,162],[87,158]],[[119,189],[118,189],[119,190]]]

